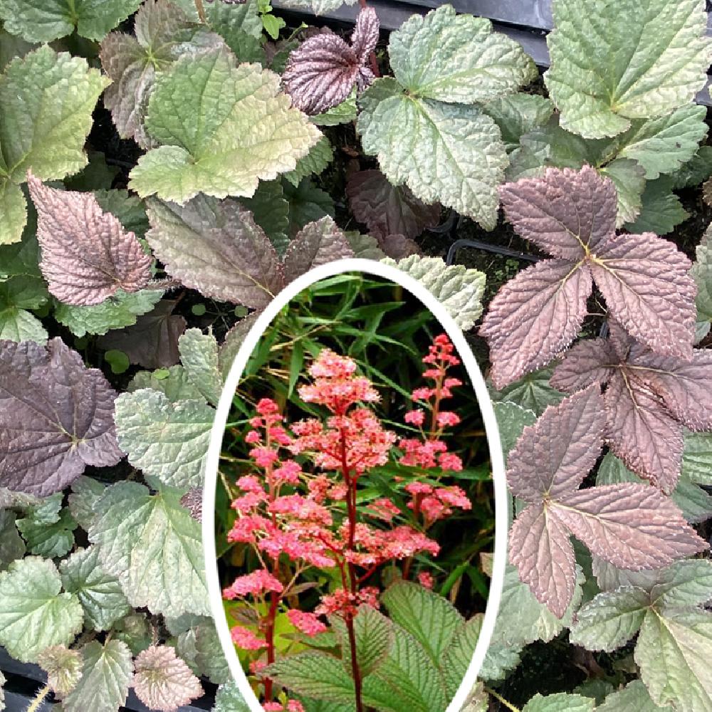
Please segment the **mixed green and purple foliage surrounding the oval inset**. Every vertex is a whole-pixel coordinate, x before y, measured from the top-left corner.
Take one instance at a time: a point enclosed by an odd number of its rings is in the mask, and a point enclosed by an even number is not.
[[[712,710],[710,237],[680,230],[708,216],[706,14],[552,8],[542,91],[517,43],[448,5],[391,33],[386,62],[368,8],[350,41],[273,41],[257,0],[0,0],[0,644],[46,671],[39,698],[112,712],[133,686],[172,710],[201,678],[217,712],[244,706],[201,561],[214,407],[253,314],[361,256],[421,279],[465,330],[486,308],[513,533],[546,523],[544,548],[511,557],[468,710]],[[442,209],[493,230],[501,204],[550,258],[488,306],[483,273],[422,233]],[[418,615],[446,633],[419,642],[461,678],[472,646],[432,600]],[[542,651],[580,684],[541,679]],[[417,708],[420,662],[371,706]],[[348,676],[337,663],[324,679]]]

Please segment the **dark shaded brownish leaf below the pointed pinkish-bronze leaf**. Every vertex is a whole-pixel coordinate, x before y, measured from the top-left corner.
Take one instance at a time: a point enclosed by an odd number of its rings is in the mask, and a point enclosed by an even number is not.
[[[177,364],[178,339],[185,331],[186,320],[173,313],[177,300],[162,299],[135,324],[101,337],[98,345],[123,351],[130,362],[145,368],[161,368]]]

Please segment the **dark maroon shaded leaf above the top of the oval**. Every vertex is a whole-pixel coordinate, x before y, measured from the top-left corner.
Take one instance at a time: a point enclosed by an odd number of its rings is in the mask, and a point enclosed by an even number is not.
[[[414,238],[440,219],[438,203],[424,204],[407,186],[392,185],[377,170],[352,174],[346,194],[354,217],[380,238],[388,235]]]

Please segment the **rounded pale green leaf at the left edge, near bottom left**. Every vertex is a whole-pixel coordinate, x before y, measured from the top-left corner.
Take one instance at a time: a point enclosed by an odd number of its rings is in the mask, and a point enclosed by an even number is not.
[[[61,593],[57,567],[28,556],[0,572],[0,644],[21,662],[36,662],[51,645],[69,645],[82,629],[78,598]]]

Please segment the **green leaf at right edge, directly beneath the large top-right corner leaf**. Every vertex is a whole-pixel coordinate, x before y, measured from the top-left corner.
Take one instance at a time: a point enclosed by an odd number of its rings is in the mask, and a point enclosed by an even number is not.
[[[618,138],[618,155],[636,160],[647,180],[672,173],[688,162],[707,135],[706,108],[689,104],[668,115],[632,122]]]

